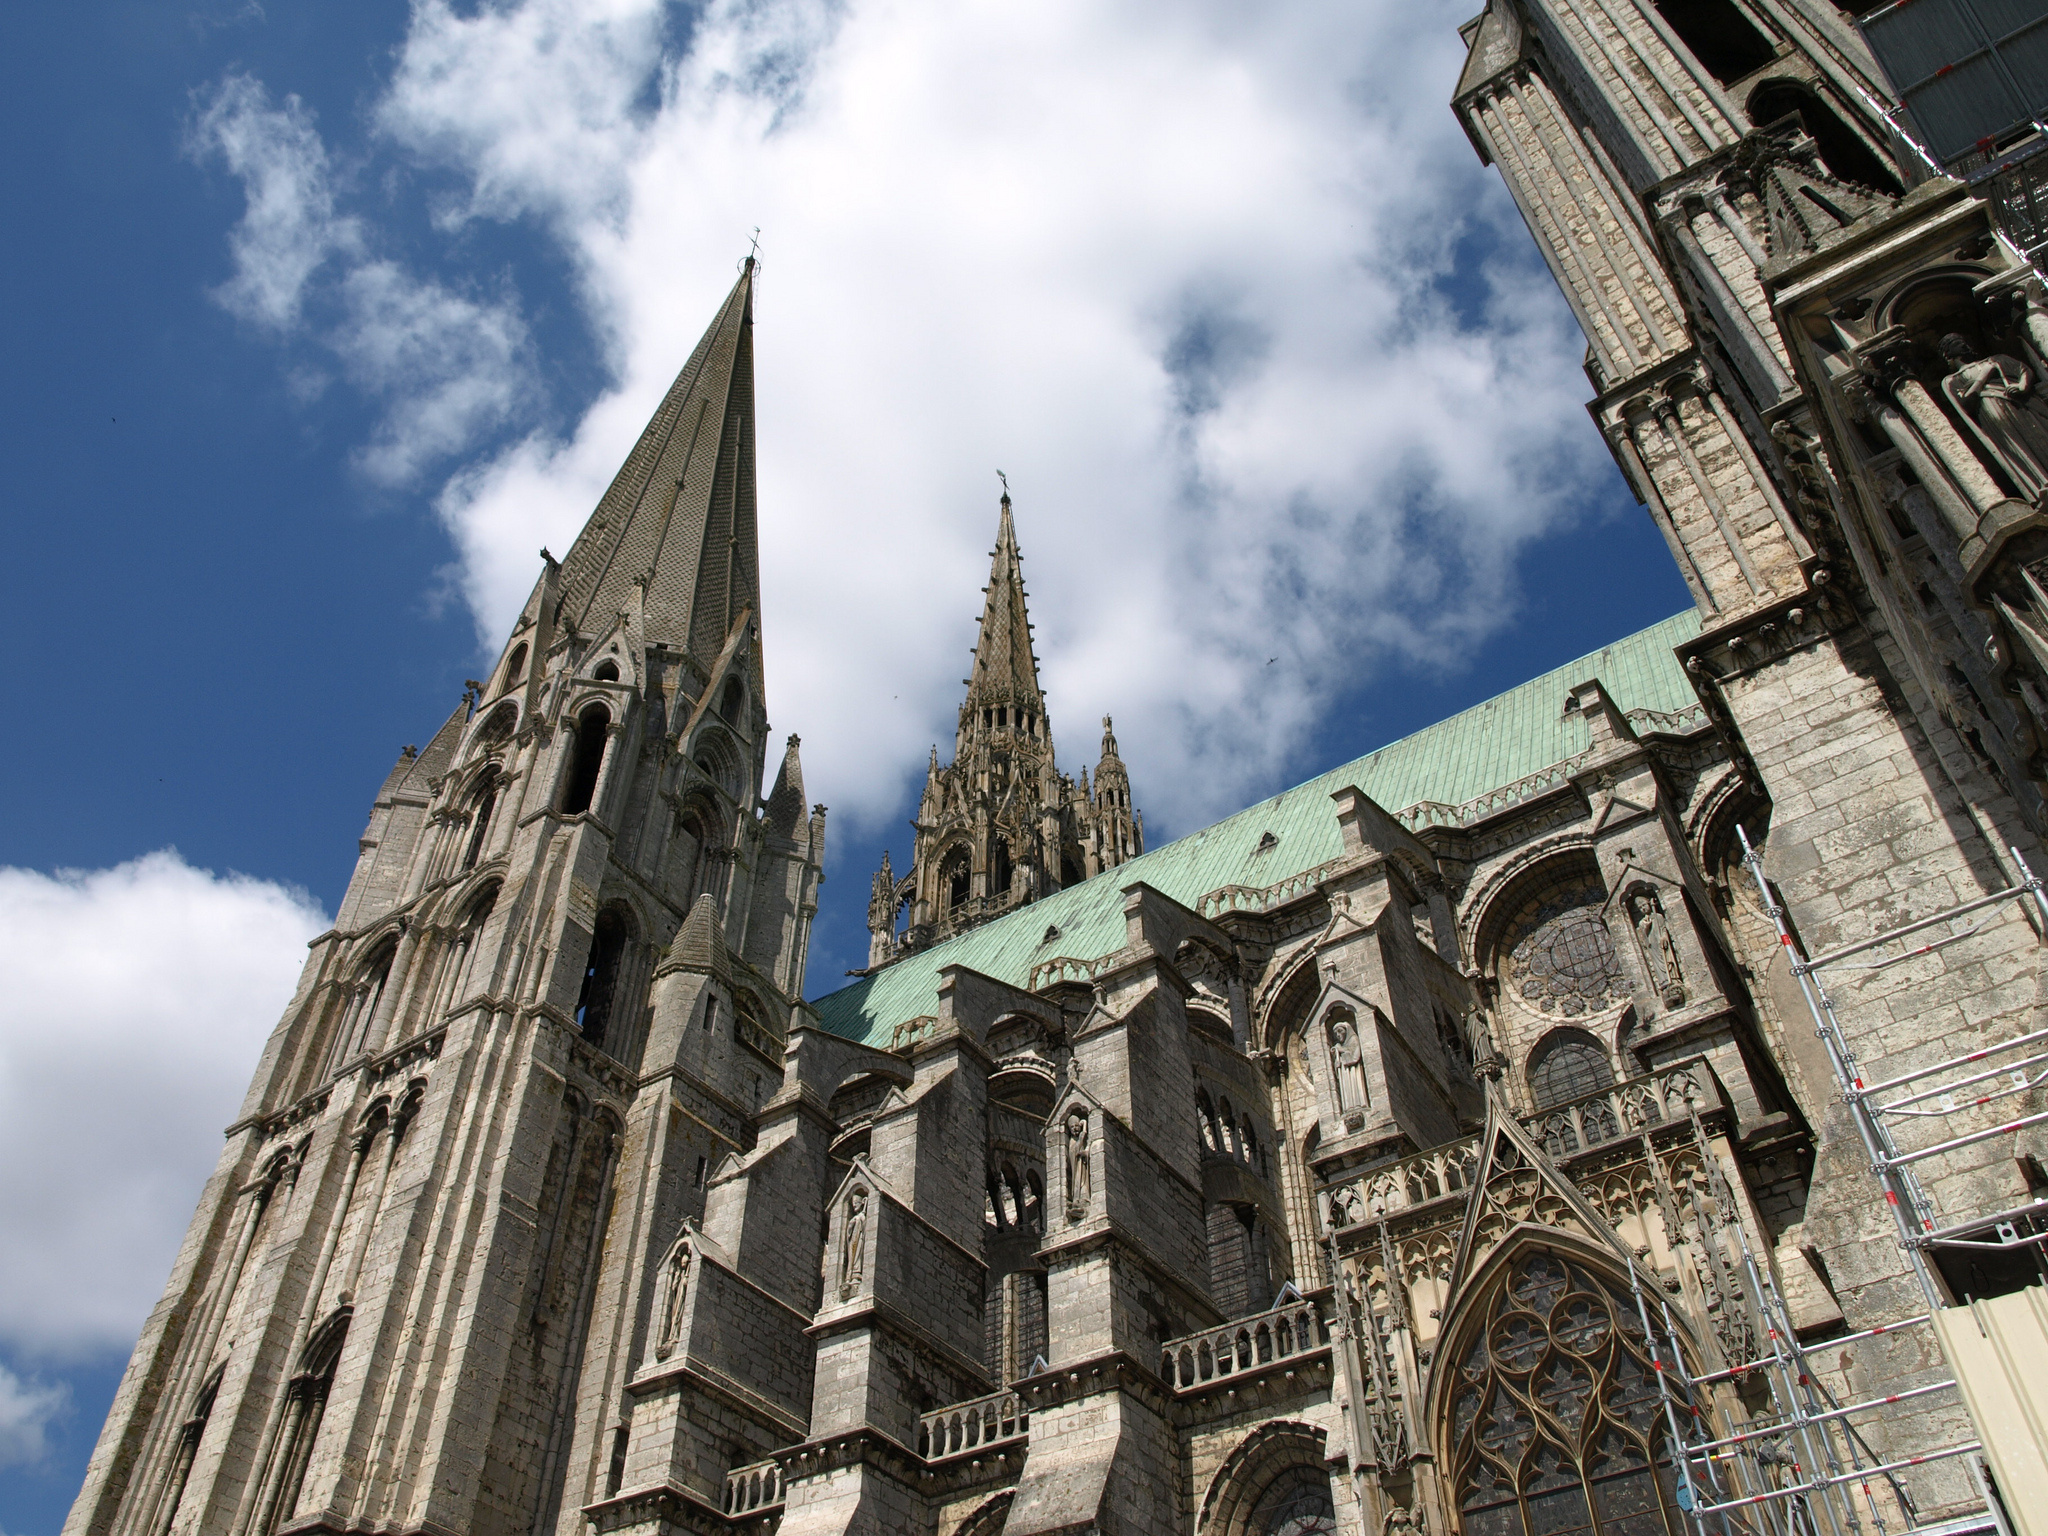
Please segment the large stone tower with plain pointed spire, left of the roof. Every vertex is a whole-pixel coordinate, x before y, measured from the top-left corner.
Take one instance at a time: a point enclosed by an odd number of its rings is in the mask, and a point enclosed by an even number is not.
[[[748,260],[487,682],[377,793],[74,1536],[526,1536],[606,1495],[649,1249],[780,1085],[821,879],[754,500]]]

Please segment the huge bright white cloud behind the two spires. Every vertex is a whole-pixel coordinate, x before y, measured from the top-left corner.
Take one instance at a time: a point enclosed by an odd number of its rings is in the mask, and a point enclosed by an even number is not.
[[[367,154],[457,188],[451,252],[551,242],[614,377],[440,492],[483,643],[760,225],[772,709],[819,797],[893,811],[950,737],[1001,465],[1067,766],[1114,711],[1155,827],[1233,809],[1331,688],[1497,631],[1518,551],[1612,483],[1583,342],[1446,106],[1458,20],[420,0]],[[1511,254],[1460,268],[1466,236]],[[465,399],[442,442],[518,418]]]

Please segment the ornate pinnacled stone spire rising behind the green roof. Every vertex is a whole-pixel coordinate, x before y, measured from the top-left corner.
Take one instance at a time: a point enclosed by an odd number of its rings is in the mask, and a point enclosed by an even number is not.
[[[1008,489],[983,594],[952,762],[942,768],[932,748],[911,868],[899,879],[885,852],[874,874],[870,969],[1145,852],[1145,817],[1130,805],[1108,717],[1094,788],[1085,768],[1075,782],[1053,762]]]

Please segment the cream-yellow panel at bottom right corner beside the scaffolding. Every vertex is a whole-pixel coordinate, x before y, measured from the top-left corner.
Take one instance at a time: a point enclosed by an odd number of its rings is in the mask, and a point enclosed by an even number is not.
[[[2048,1290],[1933,1315],[2017,1536],[2048,1536]]]

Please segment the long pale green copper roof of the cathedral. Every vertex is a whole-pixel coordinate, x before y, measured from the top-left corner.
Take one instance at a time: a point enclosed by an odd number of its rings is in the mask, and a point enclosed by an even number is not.
[[[813,1006],[827,1030],[887,1047],[897,1024],[936,1012],[942,967],[965,965],[1024,987],[1042,961],[1085,961],[1122,946],[1126,885],[1143,881],[1194,907],[1227,885],[1264,889],[1313,870],[1343,848],[1329,797],[1348,784],[1389,811],[1415,807],[1405,817],[1409,825],[1489,815],[1520,799],[1511,791],[1522,780],[1538,776],[1532,788],[1544,788],[1554,782],[1542,778],[1544,770],[1585,750],[1585,721],[1567,713],[1565,700],[1573,686],[1591,678],[1599,678],[1608,696],[1636,717],[1640,731],[1698,729],[1704,725],[1698,698],[1671,655],[1671,647],[1698,633],[1700,618],[1692,610],[1665,618],[1212,827],[897,961]],[[1272,842],[1266,842],[1268,834]],[[1049,928],[1059,934],[1047,938]]]

